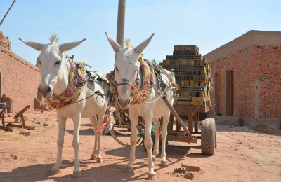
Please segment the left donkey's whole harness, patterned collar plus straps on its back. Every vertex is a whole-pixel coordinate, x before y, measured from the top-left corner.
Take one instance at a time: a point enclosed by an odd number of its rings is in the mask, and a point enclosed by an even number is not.
[[[96,71],[87,71],[85,63],[73,62],[74,55],[69,58],[71,59],[68,59],[67,61],[70,63],[71,68],[70,68],[69,83],[67,85],[67,88],[59,96],[55,96],[55,94],[53,94],[52,97],[47,99],[48,105],[51,106],[53,109],[63,109],[66,106],[69,106],[70,104],[74,104],[84,99],[88,99],[93,95],[97,95],[98,97],[103,99],[103,94],[99,90],[97,90],[96,92],[92,90],[93,94],[91,96],[77,101],[78,97],[80,96],[81,92],[84,89],[85,83],[88,80],[100,81],[106,83],[108,83],[108,81],[104,80],[103,78],[100,78],[100,76]],[[96,75],[92,76],[91,74],[92,72],[96,73]],[[91,89],[91,87],[89,88]],[[103,102],[103,100],[101,102]]]

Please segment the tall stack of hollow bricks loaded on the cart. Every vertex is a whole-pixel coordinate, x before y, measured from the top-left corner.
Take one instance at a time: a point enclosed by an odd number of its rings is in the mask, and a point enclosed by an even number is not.
[[[198,50],[196,45],[175,45],[173,55],[167,55],[160,63],[175,73],[180,97],[174,105],[211,105],[211,67]]]

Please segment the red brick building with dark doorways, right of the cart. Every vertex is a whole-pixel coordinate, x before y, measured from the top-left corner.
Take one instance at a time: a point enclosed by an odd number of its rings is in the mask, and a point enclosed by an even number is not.
[[[234,123],[242,118],[246,125],[260,121],[280,125],[280,31],[248,31],[204,58],[214,80],[211,105],[216,115]]]

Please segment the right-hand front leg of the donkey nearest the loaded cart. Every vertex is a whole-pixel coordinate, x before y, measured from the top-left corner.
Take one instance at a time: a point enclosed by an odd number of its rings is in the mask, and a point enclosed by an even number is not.
[[[154,164],[152,161],[152,139],[151,139],[151,127],[152,127],[152,111],[145,116],[145,148],[148,152],[148,179],[156,179],[156,173],[154,172]]]

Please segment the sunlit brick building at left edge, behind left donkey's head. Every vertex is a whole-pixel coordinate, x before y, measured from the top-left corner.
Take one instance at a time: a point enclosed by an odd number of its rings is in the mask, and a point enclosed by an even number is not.
[[[11,51],[11,42],[0,31],[0,97],[10,97],[13,110],[34,105],[40,83],[39,69]],[[0,99],[1,100],[1,99]]]

